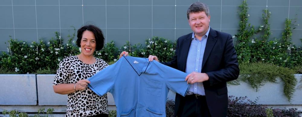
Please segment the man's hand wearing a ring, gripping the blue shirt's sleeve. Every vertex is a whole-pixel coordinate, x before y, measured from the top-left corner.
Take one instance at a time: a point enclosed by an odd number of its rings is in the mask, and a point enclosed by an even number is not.
[[[195,82],[203,82],[209,80],[209,76],[206,73],[198,73],[198,72],[192,72],[191,74],[188,74],[185,81],[187,81],[187,84],[194,84]]]

